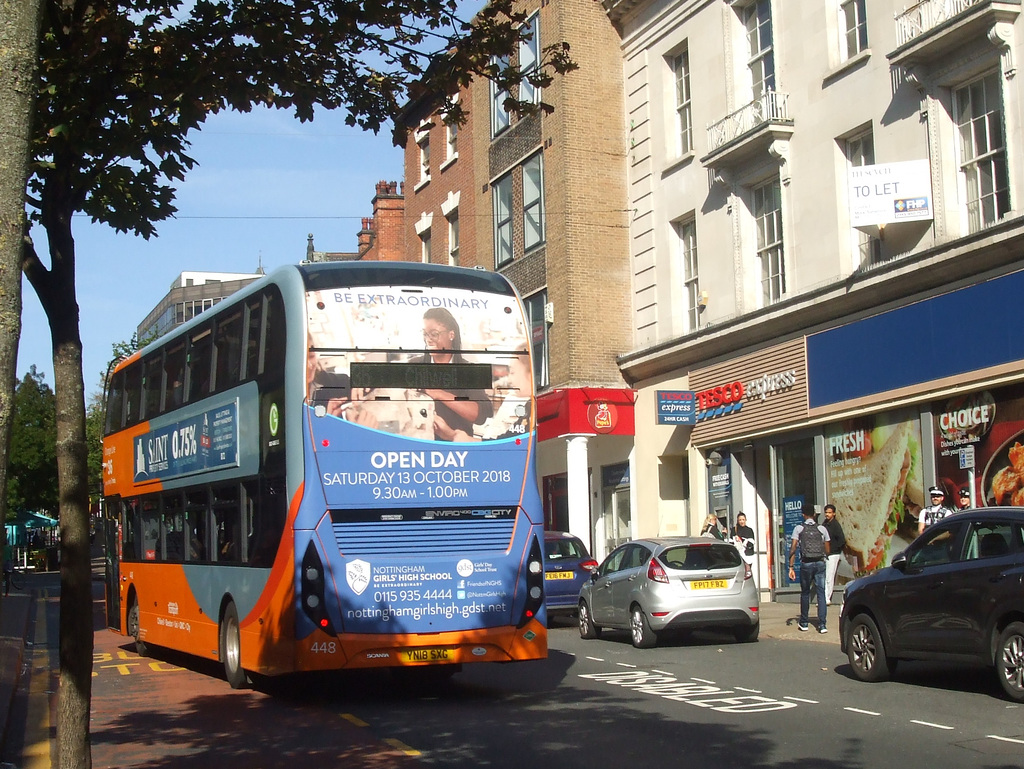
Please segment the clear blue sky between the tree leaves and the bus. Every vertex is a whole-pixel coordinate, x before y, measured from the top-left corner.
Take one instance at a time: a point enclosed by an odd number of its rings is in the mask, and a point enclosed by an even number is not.
[[[344,113],[301,124],[285,111],[222,114],[190,136],[199,165],[178,186],[178,215],[144,241],[76,217],[78,301],[86,395],[99,390],[116,342],[138,324],[185,270],[270,271],[318,251],[355,251],[378,181],[402,180],[402,153],[385,127],[348,128]],[[45,233],[35,231],[45,255]],[[45,259],[45,256],[44,256]],[[33,364],[53,386],[46,315],[23,281],[17,376]]]

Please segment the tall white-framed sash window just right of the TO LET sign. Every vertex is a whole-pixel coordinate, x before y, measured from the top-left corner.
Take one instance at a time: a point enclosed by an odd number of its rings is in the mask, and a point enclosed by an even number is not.
[[[959,137],[961,196],[968,231],[975,232],[1010,211],[999,74],[993,72],[956,88],[953,111]]]

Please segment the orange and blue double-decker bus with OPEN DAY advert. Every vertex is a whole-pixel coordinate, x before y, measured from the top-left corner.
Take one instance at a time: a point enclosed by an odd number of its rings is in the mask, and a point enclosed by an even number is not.
[[[498,273],[294,265],[120,362],[108,624],[236,688],[545,657],[528,334]]]

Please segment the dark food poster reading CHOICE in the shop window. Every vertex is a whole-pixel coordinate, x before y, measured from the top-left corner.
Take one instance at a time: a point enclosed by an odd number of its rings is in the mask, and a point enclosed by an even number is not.
[[[935,477],[953,505],[971,485],[961,452],[974,447],[974,494],[979,506],[1024,505],[1024,388],[983,390],[937,403]]]

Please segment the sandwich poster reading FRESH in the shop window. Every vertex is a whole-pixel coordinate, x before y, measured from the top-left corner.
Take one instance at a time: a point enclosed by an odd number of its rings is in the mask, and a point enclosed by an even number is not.
[[[889,565],[916,536],[924,505],[921,422],[873,415],[825,431],[827,500],[846,535],[838,583]]]

